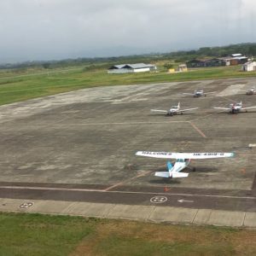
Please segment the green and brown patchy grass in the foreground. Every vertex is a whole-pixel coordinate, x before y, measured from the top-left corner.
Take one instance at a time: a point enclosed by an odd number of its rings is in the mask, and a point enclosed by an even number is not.
[[[0,255],[256,255],[256,230],[0,213]]]

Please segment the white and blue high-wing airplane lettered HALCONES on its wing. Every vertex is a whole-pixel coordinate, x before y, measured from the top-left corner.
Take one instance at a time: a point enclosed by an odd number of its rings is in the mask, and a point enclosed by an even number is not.
[[[163,159],[176,159],[174,166],[171,161],[167,161],[168,172],[154,172],[154,176],[158,177],[188,177],[189,173],[180,172],[189,166],[191,159],[212,159],[223,157],[234,157],[234,153],[171,153],[171,152],[149,152],[137,151],[136,155],[148,156]],[[195,171],[195,168],[193,168]]]

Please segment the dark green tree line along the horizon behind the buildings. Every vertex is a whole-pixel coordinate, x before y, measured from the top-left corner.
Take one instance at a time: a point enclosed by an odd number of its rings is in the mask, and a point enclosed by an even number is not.
[[[0,69],[39,67],[44,69],[57,67],[78,67],[85,66],[84,70],[109,67],[123,63],[154,63],[155,61],[184,62],[201,57],[225,57],[234,53],[241,53],[247,56],[256,56],[256,43],[230,44],[218,47],[201,47],[200,49],[179,50],[170,53],[154,53],[148,55],[127,55],[104,58],[78,58],[61,61],[26,61],[15,64],[2,64]]]

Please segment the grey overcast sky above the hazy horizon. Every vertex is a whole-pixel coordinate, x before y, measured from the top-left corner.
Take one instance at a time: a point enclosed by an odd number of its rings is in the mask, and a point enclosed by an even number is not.
[[[255,42],[255,0],[0,0],[0,62]]]

